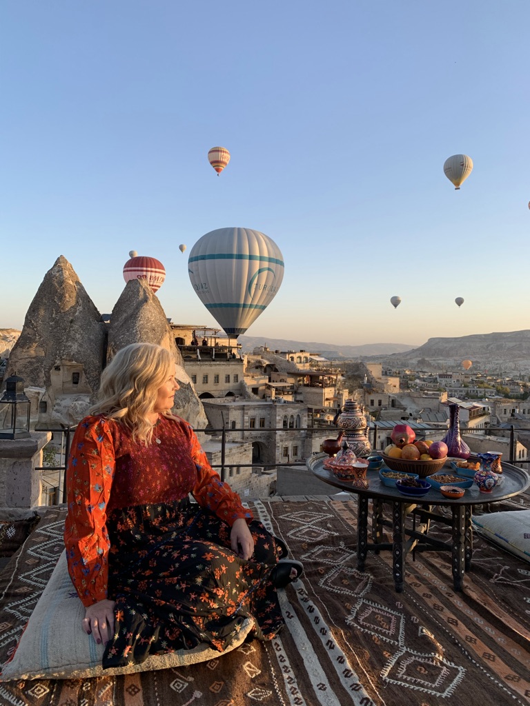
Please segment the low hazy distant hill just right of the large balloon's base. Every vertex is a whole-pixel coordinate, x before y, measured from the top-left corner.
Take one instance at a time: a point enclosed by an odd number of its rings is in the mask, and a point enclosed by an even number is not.
[[[242,349],[245,353],[252,353],[254,348],[266,346],[272,351],[305,350],[310,353],[318,353],[330,359],[351,359],[358,358],[359,356],[390,355],[408,351],[413,348],[412,345],[402,343],[366,343],[361,346],[343,346],[329,342],[292,341],[285,338],[265,338],[262,336],[245,335],[240,336],[237,342],[242,344]]]

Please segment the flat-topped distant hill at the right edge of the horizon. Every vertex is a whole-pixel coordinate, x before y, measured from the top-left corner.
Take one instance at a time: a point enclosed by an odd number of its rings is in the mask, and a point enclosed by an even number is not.
[[[530,374],[530,330],[500,333],[476,333],[459,338],[430,338],[423,346],[377,356],[394,368],[418,367],[428,369],[442,366],[460,366],[461,361],[473,362],[473,370],[489,373]],[[426,364],[426,365],[425,365]]]

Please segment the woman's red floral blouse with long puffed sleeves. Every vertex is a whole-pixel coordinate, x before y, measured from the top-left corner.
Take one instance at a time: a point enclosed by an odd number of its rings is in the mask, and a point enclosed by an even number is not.
[[[73,585],[85,606],[107,598],[107,513],[130,505],[170,503],[192,493],[197,503],[233,525],[253,519],[240,497],[211,468],[192,427],[160,417],[153,441],[133,441],[117,421],[86,417],[73,436],[66,471],[64,543]]]

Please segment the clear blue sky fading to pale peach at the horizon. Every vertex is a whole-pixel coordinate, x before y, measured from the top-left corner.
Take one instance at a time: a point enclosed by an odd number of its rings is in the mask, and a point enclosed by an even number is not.
[[[3,0],[0,328],[59,255],[110,313],[130,250],[174,323],[218,327],[187,258],[223,227],[285,261],[247,335],[530,328],[529,26],[527,0]]]

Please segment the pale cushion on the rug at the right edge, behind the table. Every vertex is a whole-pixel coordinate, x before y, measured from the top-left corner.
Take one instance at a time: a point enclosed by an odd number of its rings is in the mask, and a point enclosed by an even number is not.
[[[473,525],[486,539],[530,561],[530,510],[473,515]]]

